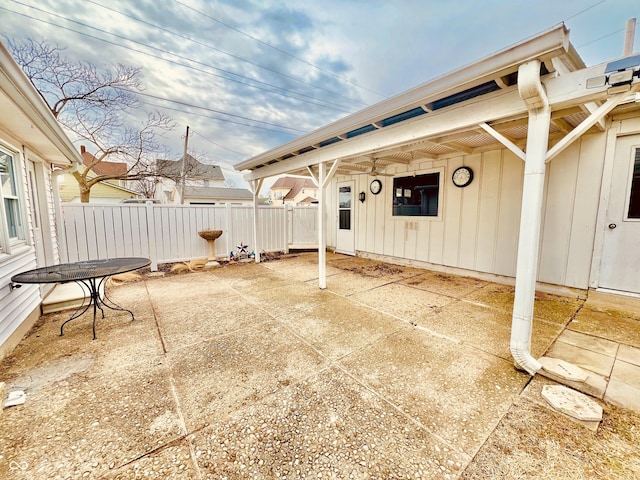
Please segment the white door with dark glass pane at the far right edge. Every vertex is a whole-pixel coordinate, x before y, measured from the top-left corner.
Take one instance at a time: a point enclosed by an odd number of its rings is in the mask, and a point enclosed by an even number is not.
[[[640,135],[617,140],[599,286],[640,294]]]

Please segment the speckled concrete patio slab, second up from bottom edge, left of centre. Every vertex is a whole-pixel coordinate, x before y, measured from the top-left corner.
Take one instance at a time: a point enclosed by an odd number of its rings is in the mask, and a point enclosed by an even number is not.
[[[190,431],[260,401],[328,361],[270,321],[168,354]]]

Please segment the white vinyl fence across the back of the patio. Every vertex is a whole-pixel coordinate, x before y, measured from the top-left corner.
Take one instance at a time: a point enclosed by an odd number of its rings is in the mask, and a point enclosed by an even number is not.
[[[317,214],[317,207],[259,207],[260,251],[317,248]],[[147,257],[156,269],[159,263],[206,258],[200,230],[223,231],[215,241],[220,257],[241,242],[255,248],[251,206],[65,203],[62,216],[69,262]]]

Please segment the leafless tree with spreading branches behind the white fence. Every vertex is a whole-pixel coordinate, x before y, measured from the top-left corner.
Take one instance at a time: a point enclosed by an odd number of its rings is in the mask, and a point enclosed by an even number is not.
[[[85,170],[73,174],[82,202],[89,201],[91,187],[98,182],[156,175],[153,160],[160,149],[159,139],[174,125],[159,112],[148,114],[137,125],[127,121],[140,107],[139,67],[117,65],[98,72],[92,64],[68,61],[61,47],[46,41],[8,40],[8,45],[54,117],[75,140],[95,147]],[[126,174],[92,177],[91,169],[107,158],[126,163]]]

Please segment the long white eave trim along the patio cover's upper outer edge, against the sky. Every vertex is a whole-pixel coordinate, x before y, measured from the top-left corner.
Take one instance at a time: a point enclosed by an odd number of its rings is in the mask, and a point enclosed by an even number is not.
[[[480,85],[499,76],[501,72],[533,59],[544,61],[571,51],[569,31],[560,24],[533,38],[508,47],[490,57],[473,62],[388,100],[365,108],[329,125],[293,140],[285,145],[256,155],[235,165],[238,171],[255,168],[275,158],[316,145],[384,118],[397,115],[425,102],[446,97],[455,92]]]

